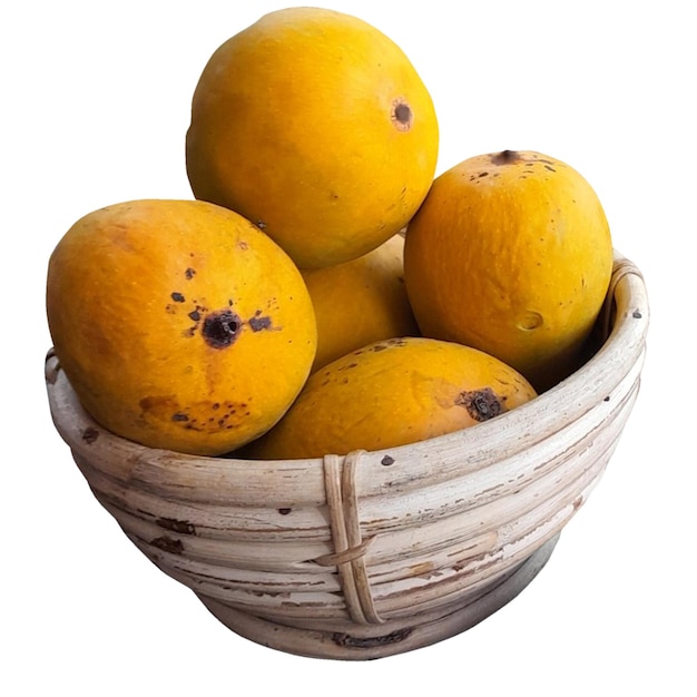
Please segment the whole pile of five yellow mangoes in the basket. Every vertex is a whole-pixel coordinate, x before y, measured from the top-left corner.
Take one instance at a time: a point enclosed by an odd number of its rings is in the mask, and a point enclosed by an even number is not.
[[[193,198],[117,203],[51,255],[56,355],[104,428],[314,458],[464,429],[577,370],[607,293],[600,202],[536,151],[435,176],[431,96],[366,22],[272,12],[193,95]]]

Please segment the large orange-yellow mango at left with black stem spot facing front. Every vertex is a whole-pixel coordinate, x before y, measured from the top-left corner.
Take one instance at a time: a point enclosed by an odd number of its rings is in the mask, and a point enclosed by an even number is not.
[[[79,219],[50,257],[47,313],[97,422],[193,454],[274,425],[316,348],[291,258],[238,214],[196,200],[127,202]]]

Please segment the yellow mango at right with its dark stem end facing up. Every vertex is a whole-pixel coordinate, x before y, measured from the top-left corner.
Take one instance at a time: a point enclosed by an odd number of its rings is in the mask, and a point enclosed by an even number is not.
[[[536,151],[480,155],[441,174],[406,230],[422,333],[491,353],[538,391],[578,367],[611,271],[596,192]]]

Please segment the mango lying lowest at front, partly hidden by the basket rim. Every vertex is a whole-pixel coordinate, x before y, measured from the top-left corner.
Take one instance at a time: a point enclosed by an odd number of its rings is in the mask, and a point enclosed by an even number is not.
[[[522,375],[475,348],[424,337],[380,341],[313,373],[244,457],[382,450],[467,429],[534,396]]]

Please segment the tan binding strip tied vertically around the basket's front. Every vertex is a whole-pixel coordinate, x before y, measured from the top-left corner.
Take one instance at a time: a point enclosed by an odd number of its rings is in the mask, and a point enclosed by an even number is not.
[[[361,538],[355,472],[364,451],[345,458],[324,457],[324,487],[330,508],[330,523],[334,552],[318,557],[322,566],[336,566],[346,608],[351,619],[361,625],[382,625],[371,592],[365,567],[365,551],[373,538]]]

